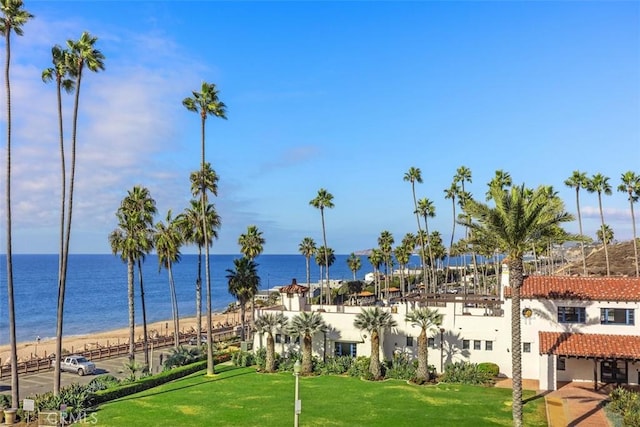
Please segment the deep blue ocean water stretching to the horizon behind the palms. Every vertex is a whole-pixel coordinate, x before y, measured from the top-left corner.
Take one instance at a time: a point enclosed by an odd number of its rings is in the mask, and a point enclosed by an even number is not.
[[[233,269],[233,260],[240,255],[211,255],[212,307],[223,311],[234,302],[227,286],[227,269]],[[330,267],[332,280],[351,280],[353,273],[347,265],[348,255],[336,255]],[[366,256],[362,256],[362,269],[357,278],[373,271]],[[256,258],[260,288],[284,286],[297,279],[306,283],[306,260],[302,255],[260,255]],[[174,281],[180,317],[194,316],[197,255],[182,255],[173,266]],[[203,314],[205,305],[205,279],[203,256]],[[311,282],[319,281],[319,267],[311,259]],[[120,257],[105,255],[70,255],[64,306],[64,334],[81,335],[128,326],[127,265]],[[169,280],[165,269],[158,269],[158,258],[148,255],[143,264],[147,321],[171,318]],[[55,337],[57,304],[57,255],[14,255],[13,281],[16,310],[16,337],[18,342]],[[7,344],[7,274],[6,261],[0,259],[0,344]],[[136,270],[136,324],[142,323],[139,284]]]

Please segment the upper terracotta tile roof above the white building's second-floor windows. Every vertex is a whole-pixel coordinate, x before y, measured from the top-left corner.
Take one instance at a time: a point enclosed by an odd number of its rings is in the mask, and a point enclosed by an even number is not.
[[[511,296],[511,288],[505,288]],[[640,301],[640,278],[528,276],[520,298],[592,301]]]

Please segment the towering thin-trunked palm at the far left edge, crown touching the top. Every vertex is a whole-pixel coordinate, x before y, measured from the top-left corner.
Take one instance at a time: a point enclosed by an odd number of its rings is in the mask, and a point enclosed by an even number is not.
[[[11,398],[14,407],[18,407],[20,393],[18,391],[18,349],[16,343],[16,315],[13,300],[13,252],[11,242],[11,32],[21,36],[22,26],[33,15],[23,9],[22,0],[0,0],[0,31],[5,38],[4,82],[7,94],[7,181],[6,181],[6,214],[7,214],[7,305],[9,307],[9,343],[11,345]]]

